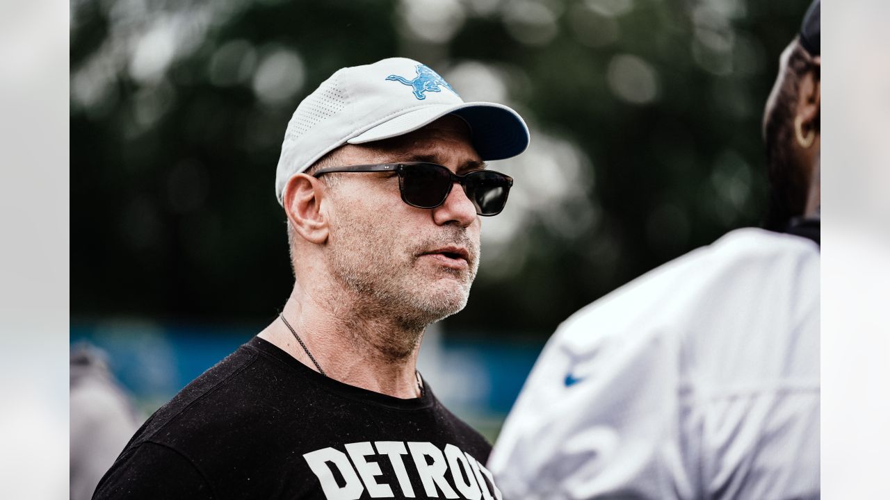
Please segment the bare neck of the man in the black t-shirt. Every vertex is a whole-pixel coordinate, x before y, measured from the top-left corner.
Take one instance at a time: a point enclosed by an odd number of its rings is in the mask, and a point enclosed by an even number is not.
[[[417,354],[425,327],[405,325],[386,315],[387,308],[362,305],[343,290],[315,292],[296,284],[282,315],[325,374],[368,391],[417,398]],[[259,336],[316,369],[281,319]]]

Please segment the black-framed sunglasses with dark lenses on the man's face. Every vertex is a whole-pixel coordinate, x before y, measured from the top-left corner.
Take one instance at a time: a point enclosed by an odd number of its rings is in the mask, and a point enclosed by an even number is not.
[[[497,215],[504,210],[506,197],[513,186],[513,177],[490,170],[473,170],[463,175],[447,167],[427,162],[382,163],[322,168],[314,173],[320,177],[332,172],[395,172],[399,174],[401,200],[417,208],[435,208],[445,203],[457,182],[466,198],[476,207],[476,214]]]

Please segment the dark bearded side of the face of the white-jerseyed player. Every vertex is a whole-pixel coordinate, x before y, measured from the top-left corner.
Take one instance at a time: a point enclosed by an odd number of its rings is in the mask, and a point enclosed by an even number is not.
[[[770,201],[765,221],[765,228],[768,230],[784,230],[791,217],[804,212],[809,179],[807,173],[799,165],[795,165],[792,147],[795,141],[797,94],[800,82],[809,72],[819,81],[819,66],[813,64],[812,58],[796,38],[775,105],[766,118],[764,127],[767,174],[770,181]],[[819,122],[820,116],[817,115],[813,120],[817,133],[820,130]]]

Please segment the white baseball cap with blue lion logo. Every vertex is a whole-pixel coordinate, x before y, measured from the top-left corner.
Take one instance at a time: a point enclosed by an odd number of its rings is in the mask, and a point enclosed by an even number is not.
[[[529,127],[494,102],[464,102],[433,69],[391,58],[338,69],[296,107],[281,144],[275,193],[333,149],[409,133],[445,115],[470,125],[482,160],[514,157],[529,147]]]

